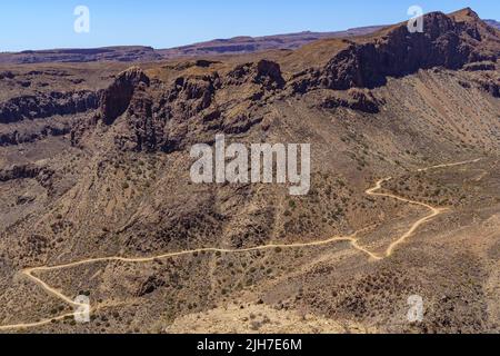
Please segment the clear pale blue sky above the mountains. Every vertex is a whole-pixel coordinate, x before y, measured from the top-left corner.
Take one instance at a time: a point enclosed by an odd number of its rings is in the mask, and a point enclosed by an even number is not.
[[[76,33],[73,10],[90,10],[90,33]],[[500,20],[499,0],[14,0],[0,4],[0,51],[144,44],[169,48],[214,38],[383,24],[471,7]]]

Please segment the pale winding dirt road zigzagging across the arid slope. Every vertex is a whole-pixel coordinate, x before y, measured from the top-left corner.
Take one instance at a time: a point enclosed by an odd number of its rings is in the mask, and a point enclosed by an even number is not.
[[[428,168],[423,168],[423,169],[419,169],[419,172],[422,171],[428,171],[431,169],[439,169],[439,168],[447,168],[447,167],[454,167],[454,166],[461,166],[461,165],[468,165],[468,164],[473,164],[473,162],[478,162],[481,159],[474,159],[474,160],[469,160],[469,161],[461,161],[461,162],[456,162],[456,164],[448,164],[448,165],[438,165],[438,166],[432,166],[432,167],[428,167]],[[88,264],[96,264],[96,263],[110,263],[110,261],[122,261],[122,263],[129,263],[129,264],[140,264],[140,263],[151,263],[158,259],[164,259],[164,258],[170,258],[170,257],[180,257],[180,256],[186,256],[186,255],[191,255],[194,253],[221,253],[221,254],[244,254],[244,253],[251,253],[251,251],[258,251],[258,250],[268,250],[268,249],[276,249],[276,248],[282,248],[282,249],[290,249],[290,248],[304,248],[304,247],[314,247],[314,246],[324,246],[324,245],[330,245],[333,243],[339,243],[339,241],[349,241],[351,244],[351,246],[363,253],[364,255],[367,255],[368,257],[370,257],[372,260],[382,260],[384,258],[390,257],[394,250],[402,244],[406,243],[406,240],[413,236],[413,234],[417,231],[417,229],[419,227],[421,227],[423,224],[430,221],[431,219],[436,218],[437,216],[443,214],[444,211],[447,211],[447,208],[438,208],[438,207],[433,207],[430,206],[428,204],[424,202],[420,202],[420,201],[414,201],[414,200],[410,200],[403,197],[399,197],[397,195],[393,194],[387,194],[387,192],[380,192],[380,190],[382,189],[382,185],[389,180],[391,180],[392,177],[389,178],[384,178],[381,179],[379,181],[377,181],[376,186],[366,190],[366,194],[369,196],[376,196],[376,197],[387,197],[387,198],[392,198],[392,199],[397,199],[403,202],[408,202],[411,205],[416,205],[416,206],[421,206],[424,207],[427,209],[430,210],[430,214],[421,219],[419,219],[418,221],[413,222],[410,228],[408,229],[407,233],[404,233],[401,237],[399,237],[396,241],[393,241],[391,245],[389,245],[388,249],[386,250],[386,253],[382,256],[376,255],[374,253],[371,253],[370,250],[368,250],[367,248],[362,247],[359,244],[359,239],[357,238],[358,235],[368,228],[364,228],[362,230],[359,230],[357,233],[354,233],[351,236],[344,236],[344,237],[333,237],[327,240],[319,240],[319,241],[312,241],[312,243],[303,243],[303,244],[290,244],[290,245],[280,245],[280,244],[271,244],[271,245],[264,245],[264,246],[257,246],[257,247],[251,247],[251,248],[244,248],[244,249],[223,249],[223,248],[199,248],[199,249],[192,249],[192,250],[184,250],[184,251],[178,251],[178,253],[168,253],[168,254],[163,254],[163,255],[158,255],[158,256],[153,256],[153,257],[138,257],[138,258],[127,258],[127,257],[101,257],[101,258],[88,258],[88,259],[83,259],[83,260],[79,260],[79,261],[74,261],[74,263],[69,263],[69,264],[64,264],[64,265],[58,265],[58,266],[42,266],[42,267],[33,267],[33,268],[27,268],[24,270],[22,270],[22,274],[24,276],[27,276],[29,279],[31,279],[34,284],[39,285],[42,289],[44,289],[48,294],[53,295],[54,297],[63,300],[64,303],[67,303],[68,305],[71,305],[76,308],[78,307],[88,307],[84,304],[80,304],[80,303],[76,303],[72,298],[66,296],[63,293],[57,290],[56,288],[52,288],[51,286],[49,286],[47,283],[44,283],[42,279],[40,279],[39,277],[34,276],[33,274],[36,273],[43,273],[43,271],[51,271],[51,270],[60,270],[60,269],[66,269],[66,268],[71,268],[71,267],[78,267],[78,266],[82,266],[82,265],[88,265]],[[100,308],[104,307],[104,305],[100,305],[97,306],[94,308],[91,308],[91,310],[96,312]],[[62,320],[66,319],[68,317],[74,317],[76,313],[68,313],[58,317],[52,317],[52,318],[48,318],[48,319],[43,319],[40,322],[36,322],[36,323],[26,323],[26,324],[16,324],[16,325],[6,325],[6,326],[0,326],[0,332],[2,330],[12,330],[12,329],[26,329],[26,328],[31,328],[31,327],[39,327],[39,326],[43,326],[43,325],[48,325],[50,323],[53,323],[56,320]]]

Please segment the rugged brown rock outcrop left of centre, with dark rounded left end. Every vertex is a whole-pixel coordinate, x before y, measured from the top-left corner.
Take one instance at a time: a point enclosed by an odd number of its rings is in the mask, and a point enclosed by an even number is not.
[[[280,66],[262,60],[229,72],[178,77],[171,85],[151,85],[139,69],[120,75],[101,97],[99,118],[112,125],[123,116],[127,130],[116,137],[124,150],[182,149],[189,142],[211,142],[216,132],[236,135],[259,123],[249,110],[267,93],[284,87]],[[246,92],[220,106],[216,98],[238,88]]]

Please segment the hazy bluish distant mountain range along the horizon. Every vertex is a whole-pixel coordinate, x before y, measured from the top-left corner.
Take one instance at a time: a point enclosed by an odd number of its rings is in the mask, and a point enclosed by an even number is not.
[[[497,20],[484,20],[500,29]],[[0,53],[0,63],[41,62],[138,62],[174,59],[182,57],[253,53],[266,50],[293,50],[313,41],[328,38],[346,38],[376,32],[384,26],[369,26],[337,32],[298,32],[264,37],[234,37],[216,39],[170,49],[153,49],[142,46],[104,47],[94,49],[52,49]]]

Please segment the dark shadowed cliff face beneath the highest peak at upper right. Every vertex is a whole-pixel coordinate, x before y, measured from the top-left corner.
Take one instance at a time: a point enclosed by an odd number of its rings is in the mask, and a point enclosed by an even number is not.
[[[467,20],[440,12],[426,16],[423,33],[410,33],[406,24],[399,24],[367,40],[348,40],[347,49],[323,68],[302,76],[294,88],[302,92],[311,88],[374,88],[383,86],[387,77],[403,77],[419,69],[459,69],[471,62],[497,61],[498,50],[483,42],[500,43],[499,33],[472,10],[459,14]]]

